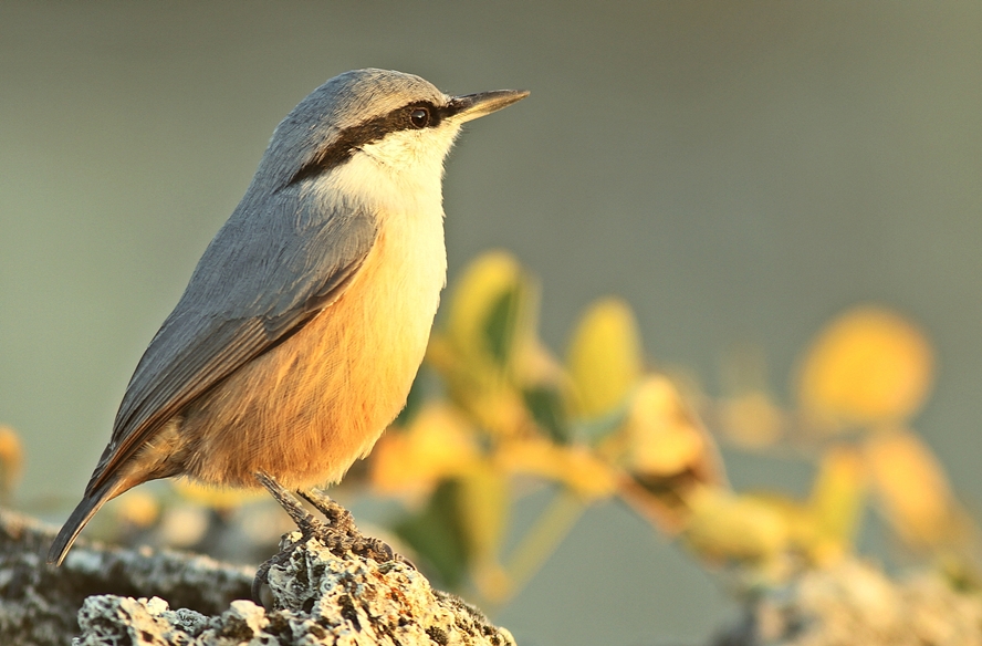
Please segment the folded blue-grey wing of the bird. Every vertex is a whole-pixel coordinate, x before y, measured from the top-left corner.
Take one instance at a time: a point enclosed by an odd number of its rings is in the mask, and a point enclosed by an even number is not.
[[[279,194],[265,212],[240,205],[221,228],[137,365],[88,491],[190,402],[344,292],[375,243],[376,221],[363,209],[314,211],[315,201]]]

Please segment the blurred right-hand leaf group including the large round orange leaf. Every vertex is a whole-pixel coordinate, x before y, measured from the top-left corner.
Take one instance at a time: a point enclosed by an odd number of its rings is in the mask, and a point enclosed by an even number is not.
[[[758,452],[792,450],[814,460],[809,500],[781,506],[796,531],[785,550],[808,565],[848,555],[874,503],[911,553],[973,571],[978,532],[948,485],[943,467],[911,429],[933,379],[927,336],[896,312],[860,305],[829,322],[803,353],[794,378],[797,408],[782,408],[753,376],[710,404],[724,440]],[[736,371],[740,372],[739,369]],[[972,574],[970,579],[974,579]]]

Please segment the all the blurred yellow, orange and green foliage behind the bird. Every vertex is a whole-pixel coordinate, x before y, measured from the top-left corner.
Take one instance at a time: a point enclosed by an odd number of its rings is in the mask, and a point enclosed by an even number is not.
[[[586,309],[561,361],[537,336],[537,303],[536,282],[514,258],[478,258],[430,340],[422,383],[438,387],[414,386],[406,411],[345,480],[403,502],[390,529],[442,585],[468,588],[485,607],[506,601],[591,504],[612,499],[744,585],[848,559],[870,506],[898,544],[953,579],[980,580],[978,532],[913,430],[932,350],[899,314],[864,305],[828,323],[806,345],[792,379],[797,404],[787,405],[752,348],[724,363],[719,396],[652,368],[630,306],[615,298]],[[718,441],[805,456],[815,466],[811,493],[733,490]],[[4,496],[21,463],[17,436],[0,427]],[[552,501],[505,551],[512,504],[530,483],[546,486]],[[163,498],[121,497],[93,525],[108,515],[117,538],[255,559],[290,529],[255,500],[177,482]],[[231,535],[249,536],[251,551],[229,552],[241,543]]]

